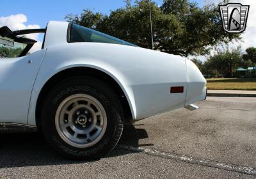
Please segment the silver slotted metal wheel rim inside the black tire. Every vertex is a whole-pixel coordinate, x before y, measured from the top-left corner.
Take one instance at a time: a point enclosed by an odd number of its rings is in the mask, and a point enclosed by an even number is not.
[[[104,135],[107,127],[106,111],[90,95],[72,95],[59,105],[55,125],[66,143],[85,148],[99,142]]]

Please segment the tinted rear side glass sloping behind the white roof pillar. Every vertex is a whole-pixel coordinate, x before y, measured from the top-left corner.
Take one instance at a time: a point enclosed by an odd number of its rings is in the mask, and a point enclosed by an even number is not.
[[[119,38],[115,38],[113,36],[100,33],[99,31],[79,26],[77,24],[71,24],[69,42],[115,43],[138,47],[132,43],[120,40]]]

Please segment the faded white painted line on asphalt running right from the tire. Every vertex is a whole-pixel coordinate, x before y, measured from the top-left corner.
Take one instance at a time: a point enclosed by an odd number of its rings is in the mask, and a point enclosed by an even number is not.
[[[176,153],[169,153],[169,152],[161,152],[158,150],[152,150],[150,148],[143,148],[143,147],[134,147],[134,146],[127,146],[124,144],[118,144],[116,146],[122,150],[129,150],[131,152],[140,152],[147,155],[154,155],[157,157],[165,158],[165,159],[175,159],[183,162],[187,162],[190,164],[198,164],[202,166],[209,166],[209,167],[216,167],[219,169],[225,169],[227,171],[236,171],[238,173],[248,174],[248,175],[256,175],[256,169],[253,167],[246,167],[237,164],[227,164],[223,162],[217,162],[214,160],[208,159],[197,159],[195,157],[189,157],[187,155],[180,155]]]

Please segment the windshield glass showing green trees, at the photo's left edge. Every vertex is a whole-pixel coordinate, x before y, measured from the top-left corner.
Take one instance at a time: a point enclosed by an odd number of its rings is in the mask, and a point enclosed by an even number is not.
[[[0,58],[18,57],[26,46],[26,43],[14,42],[13,39],[0,35]]]

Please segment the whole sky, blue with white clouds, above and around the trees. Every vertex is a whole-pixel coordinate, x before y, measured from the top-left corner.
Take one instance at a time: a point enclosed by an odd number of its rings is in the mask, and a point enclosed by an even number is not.
[[[158,5],[163,3],[163,0],[151,0]],[[204,4],[216,3],[221,0],[190,0],[198,3],[199,6]],[[250,5],[248,22],[246,31],[244,31],[242,38],[243,42],[232,42],[228,46],[230,48],[241,45],[243,51],[247,47],[256,47],[256,0],[230,0],[232,3],[242,3]],[[31,28],[44,28],[49,20],[65,20],[68,13],[80,14],[83,9],[90,9],[93,12],[101,12],[108,15],[111,10],[122,8],[125,6],[123,0],[1,0],[0,10],[0,27],[8,26],[12,30],[17,29],[31,29]],[[42,46],[42,35],[30,35],[29,38],[38,40],[32,51],[40,49]],[[212,51],[214,54],[216,51]],[[199,59],[205,61],[205,56],[199,56]]]

